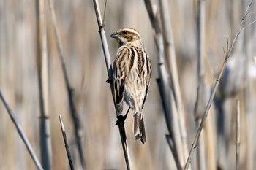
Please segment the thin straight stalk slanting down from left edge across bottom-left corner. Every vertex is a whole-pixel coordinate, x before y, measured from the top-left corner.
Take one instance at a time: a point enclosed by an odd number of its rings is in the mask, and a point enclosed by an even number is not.
[[[12,120],[12,122],[14,123],[18,134],[20,135],[20,138],[22,139],[22,141],[24,142],[24,144],[26,145],[26,149],[29,151],[29,155],[31,156],[31,158],[34,161],[34,164],[37,166],[37,169],[39,170],[43,170],[41,163],[39,162],[39,159],[37,158],[36,153],[33,150],[33,147],[31,146],[29,139],[26,137],[26,134],[24,133],[20,123],[18,123],[18,120],[16,119],[15,115],[12,112],[12,109],[10,108],[9,104],[7,104],[7,101],[5,100],[4,96],[1,93],[1,89],[0,89],[0,98],[1,101],[4,104],[5,109],[7,109],[8,114],[10,115],[10,118]]]

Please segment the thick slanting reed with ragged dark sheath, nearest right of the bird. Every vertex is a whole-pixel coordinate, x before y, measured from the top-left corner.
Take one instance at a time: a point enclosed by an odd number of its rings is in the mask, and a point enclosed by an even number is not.
[[[150,0],[144,0],[148,16],[151,20],[151,26],[154,32],[154,41],[158,51],[158,73],[157,85],[159,93],[162,98],[162,105],[165,113],[165,121],[169,134],[166,135],[167,143],[170,150],[173,153],[173,158],[178,170],[181,170],[184,166],[182,164],[182,142],[181,131],[178,125],[178,111],[176,108],[176,101],[173,95],[173,89],[171,88],[170,75],[167,69],[167,63],[164,51],[164,41],[162,37],[162,31],[160,28],[160,20],[157,17],[157,12],[153,11]],[[184,162],[184,161],[183,161]]]

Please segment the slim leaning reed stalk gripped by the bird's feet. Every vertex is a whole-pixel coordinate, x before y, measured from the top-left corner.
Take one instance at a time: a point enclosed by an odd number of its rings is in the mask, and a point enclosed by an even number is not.
[[[93,0],[94,1],[94,9],[95,9],[95,14],[96,14],[96,18],[97,18],[97,23],[99,26],[99,35],[100,35],[100,39],[102,42],[102,48],[103,48],[103,53],[105,56],[105,63],[106,63],[106,67],[107,67],[107,72],[108,72],[108,80],[112,80],[113,77],[113,70],[112,70],[112,66],[111,66],[111,61],[110,61],[110,54],[109,54],[109,50],[108,50],[108,42],[106,39],[106,34],[105,34],[105,27],[103,21],[102,21],[102,15],[100,13],[100,9],[99,9],[99,2],[97,0]],[[110,89],[111,89],[111,93],[112,93],[112,97],[113,97],[113,101],[114,101],[114,88],[113,88],[113,83],[110,81]],[[116,109],[116,104],[115,105],[115,109]],[[117,115],[117,112],[116,112]],[[132,169],[132,162],[131,159],[129,157],[129,149],[128,149],[128,144],[127,144],[127,135],[125,132],[125,128],[124,128],[124,124],[123,123],[117,123],[118,128],[119,128],[119,133],[120,133],[120,137],[121,137],[121,143],[122,143],[122,147],[123,147],[123,151],[124,151],[124,158],[125,158],[125,162],[127,165],[127,169]]]

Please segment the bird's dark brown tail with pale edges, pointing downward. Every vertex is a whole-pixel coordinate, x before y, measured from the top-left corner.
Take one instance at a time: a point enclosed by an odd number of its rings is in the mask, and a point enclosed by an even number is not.
[[[135,140],[140,139],[143,144],[146,142],[144,118],[143,115],[139,112],[133,115],[133,135]]]

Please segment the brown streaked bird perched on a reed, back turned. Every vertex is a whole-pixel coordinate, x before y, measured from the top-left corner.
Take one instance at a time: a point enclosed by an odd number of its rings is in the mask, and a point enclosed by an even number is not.
[[[144,49],[140,34],[135,29],[121,28],[111,34],[111,37],[115,38],[119,45],[113,61],[113,85],[117,112],[121,115],[123,101],[129,105],[129,109],[133,112],[135,140],[140,139],[144,144],[146,132],[143,107],[151,80],[151,61]]]

